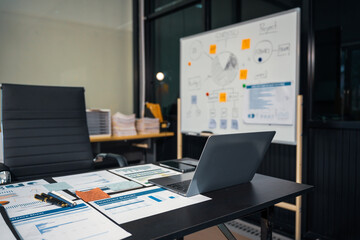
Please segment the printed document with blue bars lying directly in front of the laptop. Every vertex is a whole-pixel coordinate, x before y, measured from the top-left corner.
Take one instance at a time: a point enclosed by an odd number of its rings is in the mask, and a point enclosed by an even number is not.
[[[122,224],[208,200],[211,198],[203,195],[183,197],[164,188],[149,187],[114,194],[90,204]]]

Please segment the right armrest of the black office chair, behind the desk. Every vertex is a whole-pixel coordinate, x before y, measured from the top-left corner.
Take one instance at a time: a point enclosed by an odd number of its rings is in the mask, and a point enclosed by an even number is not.
[[[94,168],[126,167],[127,159],[120,154],[99,153],[94,158]]]

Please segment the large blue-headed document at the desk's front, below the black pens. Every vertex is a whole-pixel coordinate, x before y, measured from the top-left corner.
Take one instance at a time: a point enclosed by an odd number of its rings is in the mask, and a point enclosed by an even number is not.
[[[24,239],[124,239],[130,233],[81,200],[75,207],[45,204],[10,217]],[[44,204],[44,203],[42,203]]]

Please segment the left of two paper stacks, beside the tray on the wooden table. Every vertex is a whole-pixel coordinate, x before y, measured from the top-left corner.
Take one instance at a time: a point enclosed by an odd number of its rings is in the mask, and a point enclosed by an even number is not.
[[[115,113],[112,116],[112,130],[114,136],[136,135],[135,114]]]

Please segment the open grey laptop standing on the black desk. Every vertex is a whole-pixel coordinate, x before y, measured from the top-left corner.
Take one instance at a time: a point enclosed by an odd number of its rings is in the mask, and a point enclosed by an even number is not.
[[[274,135],[275,131],[210,136],[194,172],[149,182],[186,197],[250,182]]]

